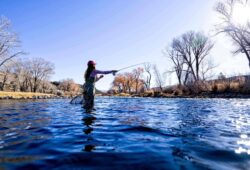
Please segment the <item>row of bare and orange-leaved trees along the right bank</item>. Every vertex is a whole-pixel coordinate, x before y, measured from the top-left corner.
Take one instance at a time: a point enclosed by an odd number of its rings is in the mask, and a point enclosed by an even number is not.
[[[224,0],[216,3],[215,11],[221,19],[221,22],[215,26],[216,35],[227,35],[235,47],[233,54],[243,53],[248,59],[250,67],[250,20],[243,24],[233,21],[233,12],[236,5],[250,7],[250,2],[247,0]],[[212,38],[203,32],[188,31],[173,38],[170,45],[163,50],[163,53],[169,62],[168,67],[166,67],[167,73],[176,76],[178,87],[188,88],[189,91],[194,93],[215,89],[214,84],[213,86],[208,85],[208,82],[213,82],[208,80],[214,77],[213,69],[216,67],[210,57],[210,52],[214,46],[215,43]],[[144,66],[144,70],[150,75],[150,80],[154,75],[155,85],[158,90],[162,91],[166,78],[160,74],[157,66]],[[148,77],[144,76],[143,78],[142,76],[144,70],[135,69],[131,73],[117,75],[112,84],[112,89],[124,93],[138,93],[138,87],[140,91],[149,90],[150,81],[148,81]],[[225,76],[224,79],[221,79],[220,75],[218,78],[226,82],[228,88],[230,79],[226,80]],[[248,78],[246,78],[246,81],[248,81]],[[239,84],[242,86],[242,81]]]

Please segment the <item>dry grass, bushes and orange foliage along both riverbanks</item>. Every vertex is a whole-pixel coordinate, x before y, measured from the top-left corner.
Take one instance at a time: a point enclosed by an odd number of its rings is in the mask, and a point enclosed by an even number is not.
[[[220,76],[215,80],[148,89],[142,83],[144,81],[140,79],[138,81],[127,77],[118,79],[121,76],[123,75],[117,75],[113,82],[113,88],[107,92],[96,89],[96,95],[155,98],[250,98],[250,75],[229,78]],[[7,84],[5,87],[8,87],[9,90],[0,91],[0,99],[70,99],[81,95],[83,91],[83,86],[74,83],[72,80],[53,82],[53,84],[56,88],[48,92],[19,92],[14,91],[11,84]]]

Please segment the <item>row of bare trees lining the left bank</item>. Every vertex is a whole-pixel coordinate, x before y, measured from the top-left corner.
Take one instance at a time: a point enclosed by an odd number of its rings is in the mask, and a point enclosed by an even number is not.
[[[69,95],[80,92],[73,79],[50,82],[54,64],[43,58],[24,58],[21,42],[11,22],[0,18],[0,91],[42,92]]]

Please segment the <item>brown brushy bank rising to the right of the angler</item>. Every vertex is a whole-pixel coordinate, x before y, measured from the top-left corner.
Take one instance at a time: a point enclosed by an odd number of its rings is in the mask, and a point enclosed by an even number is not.
[[[199,81],[187,85],[156,87],[149,90],[131,88],[134,91],[130,92],[124,89],[128,88],[116,88],[108,91],[107,94],[159,98],[250,98],[250,76],[242,75],[229,78],[221,76],[215,80]]]

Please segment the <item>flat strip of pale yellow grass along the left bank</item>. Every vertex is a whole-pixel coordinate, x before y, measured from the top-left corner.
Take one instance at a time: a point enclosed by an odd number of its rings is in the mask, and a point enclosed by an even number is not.
[[[53,97],[55,97],[55,95],[53,94],[0,91],[0,99],[34,99],[34,98],[53,98]]]

